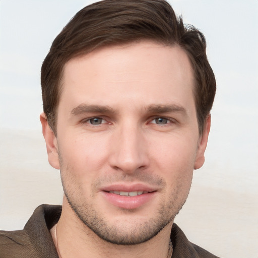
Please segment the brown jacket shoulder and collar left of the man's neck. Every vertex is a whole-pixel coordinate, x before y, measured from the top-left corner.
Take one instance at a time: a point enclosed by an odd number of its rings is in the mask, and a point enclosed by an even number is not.
[[[23,230],[0,231],[0,257],[58,257],[49,229],[57,223],[60,213],[61,206],[41,205]]]

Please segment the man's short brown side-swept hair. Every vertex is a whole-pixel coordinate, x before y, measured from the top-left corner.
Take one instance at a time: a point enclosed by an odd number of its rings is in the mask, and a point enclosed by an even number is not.
[[[152,40],[184,49],[195,72],[195,103],[199,132],[213,105],[216,81],[206,56],[204,35],[184,25],[164,0],[104,0],[79,11],[55,38],[43,61],[43,109],[56,134],[60,81],[64,64],[73,57],[112,44]]]

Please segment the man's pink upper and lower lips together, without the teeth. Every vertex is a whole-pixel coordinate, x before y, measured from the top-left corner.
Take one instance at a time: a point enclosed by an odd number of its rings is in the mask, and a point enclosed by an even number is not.
[[[147,191],[147,193],[143,193],[138,196],[120,196],[110,191]],[[157,195],[157,189],[154,187],[145,185],[145,184],[134,184],[134,185],[121,185],[121,184],[113,184],[101,189],[101,193],[103,198],[118,208],[133,210],[140,208],[154,199]]]

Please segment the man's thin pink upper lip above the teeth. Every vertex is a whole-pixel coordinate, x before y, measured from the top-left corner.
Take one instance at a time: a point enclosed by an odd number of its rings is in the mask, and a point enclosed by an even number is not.
[[[100,188],[101,191],[125,191],[125,192],[130,192],[130,191],[148,191],[148,192],[153,192],[157,191],[158,187],[150,186],[147,184],[143,183],[137,183],[137,184],[111,184],[107,186],[103,186]]]

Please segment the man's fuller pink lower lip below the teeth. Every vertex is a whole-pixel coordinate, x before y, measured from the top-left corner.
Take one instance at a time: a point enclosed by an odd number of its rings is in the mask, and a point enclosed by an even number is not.
[[[150,202],[156,195],[156,191],[143,193],[139,196],[120,196],[115,193],[102,191],[104,198],[114,206],[122,209],[137,209]]]

